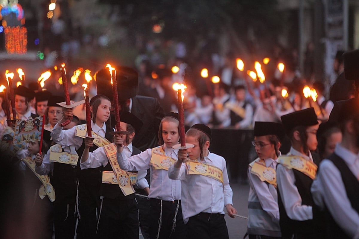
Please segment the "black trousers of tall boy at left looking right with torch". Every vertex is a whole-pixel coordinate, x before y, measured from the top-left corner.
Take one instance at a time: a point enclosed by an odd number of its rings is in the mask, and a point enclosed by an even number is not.
[[[99,238],[97,215],[100,211],[100,185],[94,186],[79,181],[79,222],[76,229],[77,239]]]

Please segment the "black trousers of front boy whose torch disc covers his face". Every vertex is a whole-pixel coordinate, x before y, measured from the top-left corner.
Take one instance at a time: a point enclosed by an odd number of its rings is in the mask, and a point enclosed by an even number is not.
[[[186,224],[187,239],[228,239],[224,214],[201,212],[190,217]]]

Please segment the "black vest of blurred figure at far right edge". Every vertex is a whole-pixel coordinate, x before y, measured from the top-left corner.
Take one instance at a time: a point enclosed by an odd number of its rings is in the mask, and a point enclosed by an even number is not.
[[[346,196],[348,197],[351,207],[359,213],[359,181],[355,175],[350,171],[345,161],[335,153],[330,155],[331,160],[335,167],[340,172],[341,178],[344,183]],[[350,238],[345,232],[338,226],[334,218],[330,214],[328,208],[325,208],[326,219],[326,238]]]

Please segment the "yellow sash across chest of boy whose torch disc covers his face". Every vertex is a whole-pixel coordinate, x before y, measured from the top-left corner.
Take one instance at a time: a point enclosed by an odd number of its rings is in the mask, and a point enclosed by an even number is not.
[[[213,178],[221,183],[223,183],[223,172],[220,168],[210,165],[200,163],[198,161],[188,161],[186,163],[187,174],[197,174],[204,175],[209,178]]]

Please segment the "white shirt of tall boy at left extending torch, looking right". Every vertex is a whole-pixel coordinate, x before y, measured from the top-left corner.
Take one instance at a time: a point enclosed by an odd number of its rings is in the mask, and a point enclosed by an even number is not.
[[[105,137],[106,133],[106,124],[103,123],[100,128],[98,125],[94,124],[91,119],[91,128],[92,131],[98,135]],[[51,137],[56,144],[61,144],[62,146],[76,145],[80,147],[83,142],[83,138],[75,136],[76,126],[68,129],[62,130],[62,127],[59,125],[59,122],[52,128]]]

